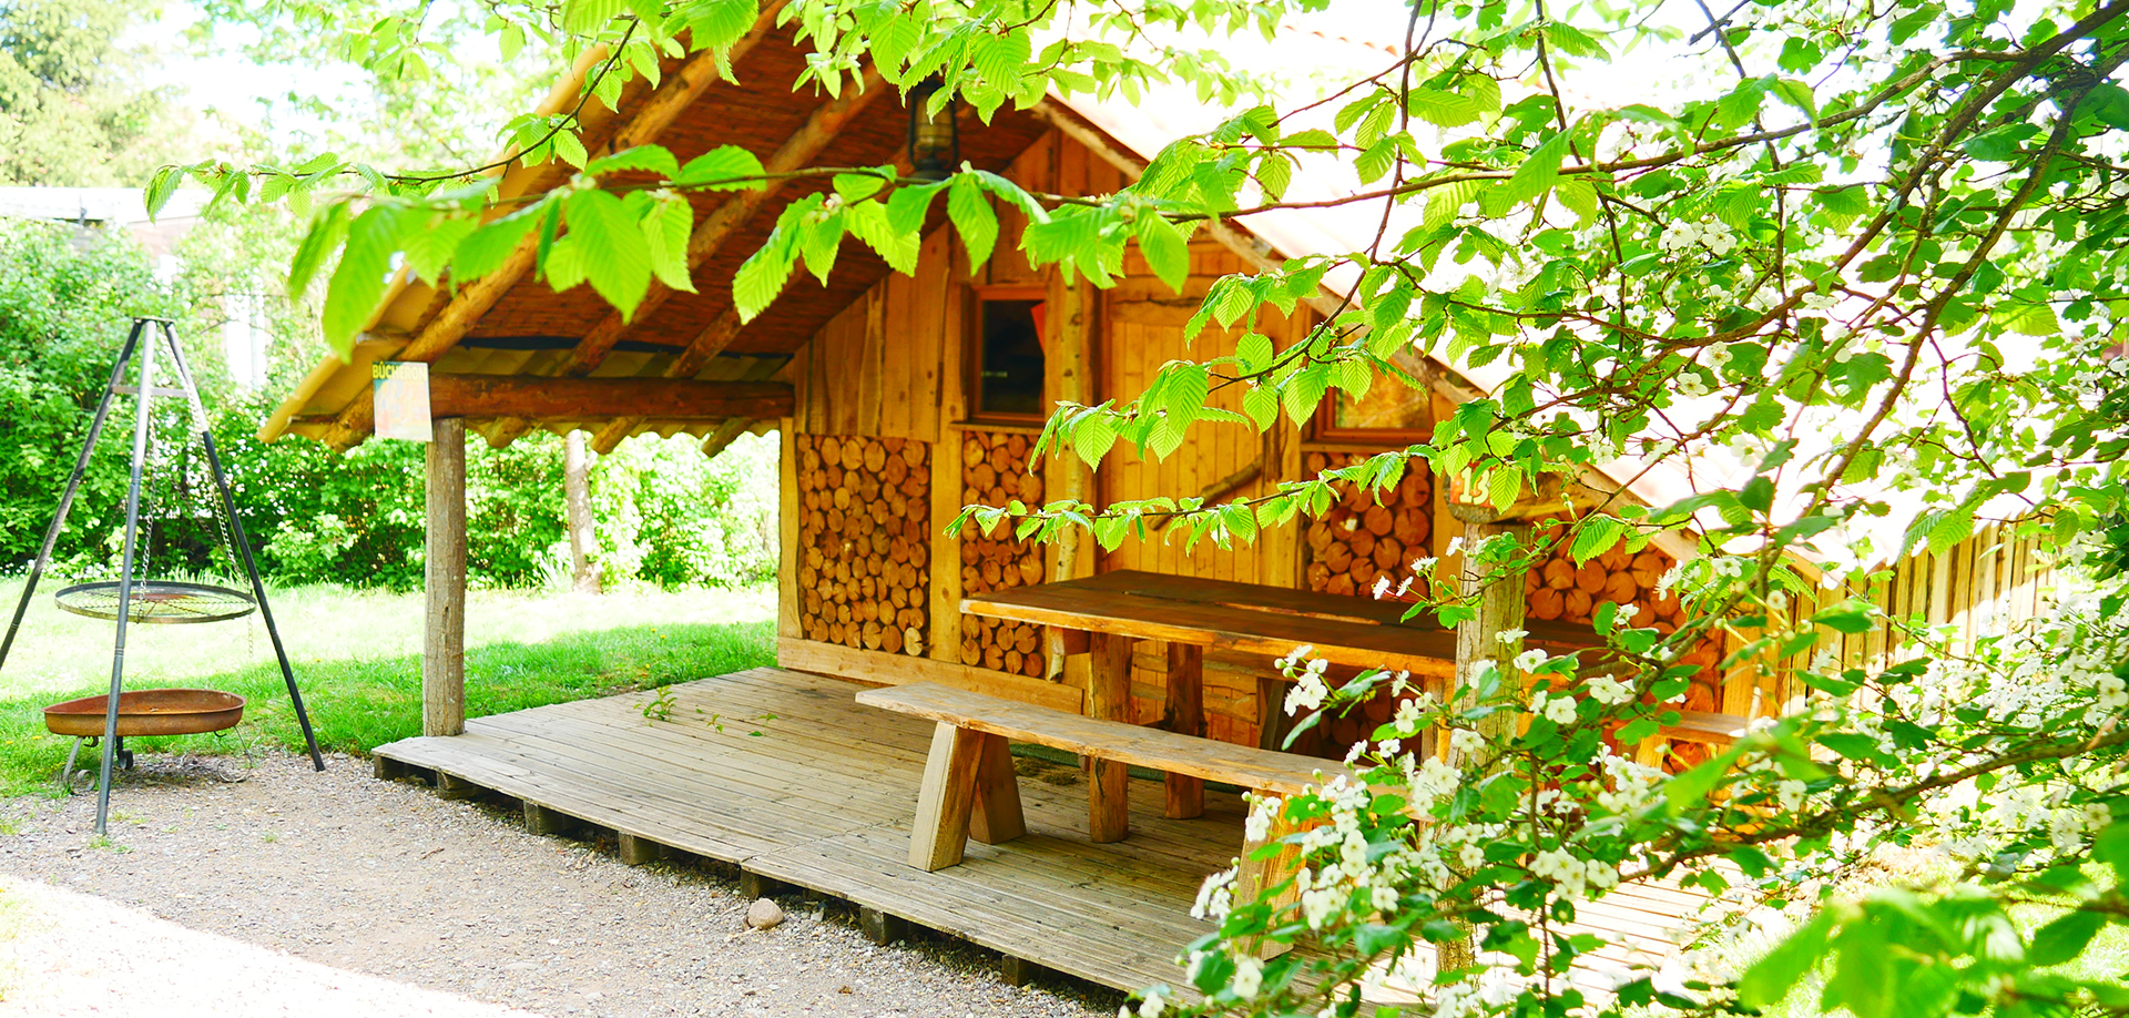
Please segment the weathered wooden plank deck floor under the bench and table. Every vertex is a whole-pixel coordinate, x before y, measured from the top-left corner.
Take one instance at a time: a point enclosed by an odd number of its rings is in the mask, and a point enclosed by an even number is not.
[[[958,867],[909,867],[909,820],[930,722],[858,707],[860,686],[783,669],[677,684],[671,720],[643,694],[558,703],[466,722],[466,735],[381,745],[377,756],[492,788],[624,835],[847,899],[1088,982],[1182,986],[1175,952],[1205,873],[1241,848],[1239,797],[1205,816],[1160,816],[1158,782],[1130,782],[1130,837],[1086,839],[1073,767],[1018,760],[1028,837],[969,843]],[[1661,963],[1693,897],[1641,888],[1586,905],[1582,922],[1631,931],[1603,967]]]

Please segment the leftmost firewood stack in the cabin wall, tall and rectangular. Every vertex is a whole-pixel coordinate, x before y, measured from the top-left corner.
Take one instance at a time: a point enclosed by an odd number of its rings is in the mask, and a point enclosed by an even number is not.
[[[807,639],[924,654],[930,447],[798,434],[798,590]]]

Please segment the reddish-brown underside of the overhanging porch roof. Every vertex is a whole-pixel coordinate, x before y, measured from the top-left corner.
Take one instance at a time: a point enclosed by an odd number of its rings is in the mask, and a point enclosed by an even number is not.
[[[837,100],[818,87],[792,89],[805,68],[805,51],[792,38],[792,28],[771,28],[773,6],[762,15],[758,43],[745,47],[732,60],[732,81],[694,85],[698,94],[658,130],[645,128],[645,119],[656,119],[660,102],[671,104],[673,94],[690,87],[683,75],[709,70],[707,55],[669,62],[664,81],[649,87],[634,81],[617,102],[617,111],[603,111],[596,102],[585,109],[583,134],[594,155],[620,147],[656,141],[671,149],[681,162],[692,160],[720,145],[739,145],[771,162],[771,158],[794,145],[824,115],[835,117],[818,151],[803,166],[877,166],[905,158],[907,106],[892,85],[873,83],[864,96],[852,96],[845,83],[843,106],[828,109]],[[564,111],[575,104],[575,81],[592,64],[579,64],[571,83],[558,87],[543,106],[545,113]],[[666,98],[660,100],[660,94]],[[854,111],[849,111],[854,106]],[[975,119],[973,111],[962,111],[960,153],[967,162],[986,170],[1003,170],[1016,155],[1033,145],[1050,124],[1022,111],[1001,109],[990,124]],[[537,194],[568,179],[568,170],[551,164],[511,166],[498,185],[505,196]],[[428,285],[396,283],[377,322],[356,345],[351,360],[328,356],[264,424],[260,437],[273,441],[281,434],[307,434],[336,447],[351,447],[368,437],[368,392],[370,364],[379,360],[428,360],[434,375],[588,375],[588,377],[679,377],[703,383],[760,381],[775,375],[794,349],[805,345],[820,326],[837,311],[862,296],[873,283],[890,273],[869,247],[843,245],[835,273],[822,285],[809,273],[792,275],[790,285],[754,322],[739,326],[735,334],[722,336],[703,349],[688,351],[698,341],[705,326],[720,319],[737,324],[732,313],[732,275],[745,258],[760,249],[775,226],[786,202],[828,187],[828,181],[792,181],[771,200],[760,200],[758,192],[700,192],[690,196],[696,211],[698,236],[720,207],[732,219],[732,228],[715,243],[707,258],[694,268],[696,292],[673,292],[662,305],[645,305],[634,322],[620,328],[620,341],[611,354],[598,351],[571,362],[571,351],[583,336],[600,328],[611,315],[611,307],[592,292],[577,285],[556,294],[545,281],[530,273],[502,279],[509,283],[498,296],[485,296],[488,307],[466,307],[481,283],[464,288],[460,294],[436,292]],[[943,204],[943,202],[941,202]],[[453,307],[453,302],[458,307]],[[471,328],[449,328],[449,317],[466,317]],[[609,322],[609,326],[617,324]],[[432,336],[443,334],[443,341]],[[458,332],[453,336],[453,332]],[[434,347],[434,349],[430,349]],[[649,409],[649,413],[660,413]],[[492,443],[507,443],[526,426],[566,432],[590,428],[598,432],[600,445],[611,447],[620,439],[639,432],[717,432],[720,417],[662,415],[641,420],[603,417],[556,417],[537,420],[468,417],[468,424],[490,437]],[[615,426],[620,424],[620,426]],[[600,430],[605,428],[605,430]]]

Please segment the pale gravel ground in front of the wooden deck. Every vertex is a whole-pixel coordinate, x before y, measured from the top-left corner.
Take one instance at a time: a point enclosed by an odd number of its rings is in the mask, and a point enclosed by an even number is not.
[[[236,782],[228,782],[236,777]],[[624,867],[330,756],[149,758],[111,799],[0,803],[0,1014],[1113,1014],[1011,988],[962,943],[875,948],[847,907],[749,901],[715,869]],[[168,920],[168,922],[160,922]],[[241,988],[241,997],[230,997]],[[189,1007],[189,1009],[187,1009]],[[511,1012],[511,1009],[517,1012]]]

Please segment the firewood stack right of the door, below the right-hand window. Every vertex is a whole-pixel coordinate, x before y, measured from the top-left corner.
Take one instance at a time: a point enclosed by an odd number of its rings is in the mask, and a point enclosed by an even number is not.
[[[1311,451],[1303,466],[1314,477],[1365,458]],[[1426,545],[1433,522],[1435,490],[1424,460],[1414,460],[1414,469],[1388,492],[1341,483],[1339,500],[1307,528],[1309,590],[1369,596],[1382,577],[1397,588],[1412,577],[1414,560],[1433,556]]]

